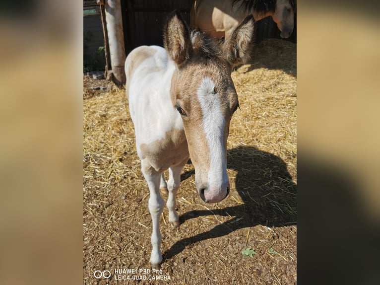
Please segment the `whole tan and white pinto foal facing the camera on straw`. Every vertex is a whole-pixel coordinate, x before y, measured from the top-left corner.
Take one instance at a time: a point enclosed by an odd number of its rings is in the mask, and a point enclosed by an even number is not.
[[[220,202],[230,191],[227,137],[232,114],[239,107],[231,71],[250,57],[253,25],[253,17],[247,17],[222,44],[203,33],[190,34],[181,14],[175,11],[164,27],[165,49],[141,46],[126,59],[129,111],[150,192],[153,268],[162,262],[162,172],[169,169],[166,206],[174,226],[180,224],[176,194],[189,154],[195,186],[204,202]]]

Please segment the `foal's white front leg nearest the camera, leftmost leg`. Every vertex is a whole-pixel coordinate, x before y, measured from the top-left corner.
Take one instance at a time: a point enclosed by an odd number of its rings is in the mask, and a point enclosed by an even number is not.
[[[150,264],[153,268],[158,269],[161,266],[162,255],[160,251],[161,233],[160,233],[160,216],[164,209],[164,199],[160,195],[160,177],[161,173],[154,168],[145,159],[141,161],[141,170],[146,182],[148,183],[150,197],[148,202],[149,212],[152,216],[152,253],[150,254]]]

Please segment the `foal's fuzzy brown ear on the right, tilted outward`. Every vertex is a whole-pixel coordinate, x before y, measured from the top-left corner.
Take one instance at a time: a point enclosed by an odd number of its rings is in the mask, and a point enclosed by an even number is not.
[[[252,14],[235,29],[231,37],[223,44],[224,58],[236,66],[251,58],[253,48],[254,19]]]

